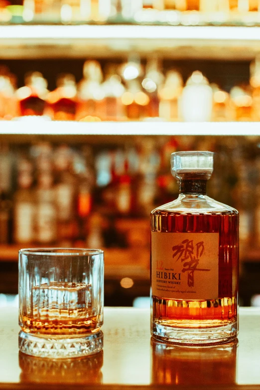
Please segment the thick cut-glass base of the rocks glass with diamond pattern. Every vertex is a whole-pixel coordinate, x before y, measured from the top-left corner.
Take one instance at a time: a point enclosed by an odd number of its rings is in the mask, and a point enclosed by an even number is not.
[[[103,349],[103,332],[84,337],[55,339],[43,338],[20,331],[19,350],[39,358],[68,359],[94,355]]]

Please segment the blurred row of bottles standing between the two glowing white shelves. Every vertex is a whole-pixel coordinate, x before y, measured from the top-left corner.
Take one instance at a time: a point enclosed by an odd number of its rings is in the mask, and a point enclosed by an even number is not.
[[[0,118],[43,116],[51,120],[136,121],[260,121],[260,60],[251,64],[248,84],[227,92],[193,72],[184,84],[175,69],[162,71],[154,57],[146,65],[134,58],[122,64],[86,61],[77,84],[72,74],[60,74],[48,91],[39,72],[25,75],[16,89],[15,75],[0,68]]]

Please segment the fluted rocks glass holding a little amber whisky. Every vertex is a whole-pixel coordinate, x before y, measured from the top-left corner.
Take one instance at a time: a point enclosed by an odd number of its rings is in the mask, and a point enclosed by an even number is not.
[[[103,308],[103,251],[19,251],[21,352],[56,359],[101,351]]]

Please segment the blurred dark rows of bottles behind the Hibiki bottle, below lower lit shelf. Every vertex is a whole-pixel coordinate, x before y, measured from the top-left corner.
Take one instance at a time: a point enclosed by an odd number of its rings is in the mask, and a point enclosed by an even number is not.
[[[240,212],[244,246],[260,246],[260,140],[138,137],[124,146],[0,147],[0,243],[148,246],[149,214],[176,199],[176,150],[215,151],[208,194]],[[258,197],[257,197],[258,199]]]

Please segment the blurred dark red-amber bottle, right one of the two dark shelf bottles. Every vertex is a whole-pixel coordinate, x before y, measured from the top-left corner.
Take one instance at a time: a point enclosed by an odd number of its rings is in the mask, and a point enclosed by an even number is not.
[[[57,88],[48,94],[46,112],[55,121],[74,121],[77,106],[77,86],[75,77],[60,74],[57,77]]]

